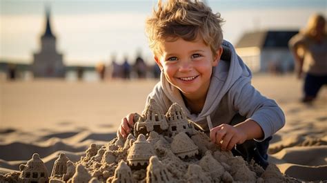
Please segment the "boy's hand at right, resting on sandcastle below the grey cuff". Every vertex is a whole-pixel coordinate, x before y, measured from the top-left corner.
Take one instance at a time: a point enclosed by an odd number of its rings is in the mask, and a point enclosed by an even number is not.
[[[210,139],[219,144],[222,151],[230,151],[236,144],[242,144],[246,141],[247,135],[242,128],[221,124],[211,129]]]

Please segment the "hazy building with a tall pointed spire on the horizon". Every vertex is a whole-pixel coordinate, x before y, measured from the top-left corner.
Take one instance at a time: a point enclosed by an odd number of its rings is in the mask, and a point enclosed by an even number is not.
[[[56,37],[50,26],[50,10],[46,10],[46,29],[41,36],[41,50],[34,53],[32,72],[34,77],[64,77],[63,55],[56,49]]]

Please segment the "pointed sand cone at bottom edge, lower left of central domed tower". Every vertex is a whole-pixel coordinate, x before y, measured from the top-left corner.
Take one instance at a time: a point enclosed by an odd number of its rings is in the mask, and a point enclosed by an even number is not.
[[[114,179],[112,183],[133,183],[135,182],[132,175],[130,166],[121,160],[115,170]]]

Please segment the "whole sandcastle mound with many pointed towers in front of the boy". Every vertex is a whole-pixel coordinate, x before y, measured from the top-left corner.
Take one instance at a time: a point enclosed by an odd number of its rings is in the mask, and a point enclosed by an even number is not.
[[[0,182],[299,182],[234,157],[197,131],[178,104],[166,115],[150,99],[142,115],[135,115],[133,133],[103,146],[91,144],[86,156],[71,162],[61,153],[48,171],[34,154],[21,172],[0,175]]]

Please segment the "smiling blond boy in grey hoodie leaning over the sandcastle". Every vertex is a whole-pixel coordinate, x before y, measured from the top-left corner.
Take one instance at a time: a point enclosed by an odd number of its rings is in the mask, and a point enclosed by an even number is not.
[[[199,1],[159,1],[146,31],[161,80],[148,99],[164,111],[177,102],[221,150],[266,168],[270,136],[284,126],[284,113],[250,85],[250,70],[223,41],[222,21]],[[127,137],[133,117],[122,119],[118,135]]]

